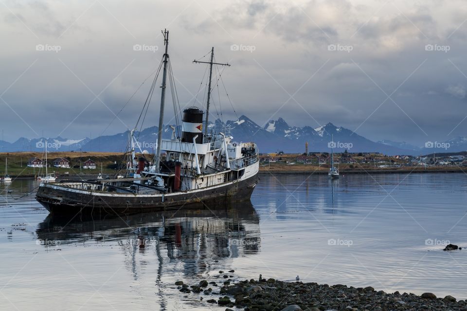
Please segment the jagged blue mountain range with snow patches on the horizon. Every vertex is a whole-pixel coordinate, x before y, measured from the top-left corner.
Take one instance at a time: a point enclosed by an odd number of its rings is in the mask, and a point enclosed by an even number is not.
[[[180,135],[180,127],[177,135]],[[426,146],[417,147],[406,142],[391,140],[372,141],[353,131],[337,127],[332,123],[313,128],[310,126],[290,126],[284,119],[270,120],[261,127],[247,116],[241,116],[235,121],[225,123],[216,120],[210,123],[209,130],[230,132],[237,142],[254,141],[260,152],[302,153],[305,152],[305,142],[308,142],[309,152],[329,152],[331,137],[334,137],[334,150],[336,152],[379,152],[386,155],[420,155],[440,152],[461,152],[467,150],[467,138],[457,137],[445,142],[428,142]],[[156,149],[157,126],[148,127],[135,136],[143,150],[154,152]],[[162,138],[171,138],[172,128],[164,125]],[[97,152],[124,152],[128,144],[129,131],[115,135],[100,136],[97,138],[48,138],[48,148],[51,151],[97,151]],[[0,152],[16,151],[42,151],[46,138],[19,138],[10,143],[0,140]],[[447,148],[448,147],[448,148]]]

